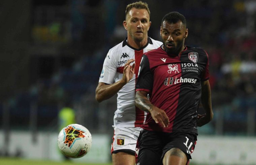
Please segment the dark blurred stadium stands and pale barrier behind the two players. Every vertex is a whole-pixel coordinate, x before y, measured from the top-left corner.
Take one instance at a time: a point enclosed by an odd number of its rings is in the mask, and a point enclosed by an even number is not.
[[[179,11],[189,29],[185,43],[210,57],[214,120],[198,129],[192,164],[255,164],[256,1],[145,1],[150,37],[161,40],[162,17]],[[132,2],[1,0],[1,165],[63,161],[58,113],[67,103],[93,136],[91,151],[76,161],[111,162],[116,98],[99,104],[95,88],[107,51],[126,37],[122,22]]]

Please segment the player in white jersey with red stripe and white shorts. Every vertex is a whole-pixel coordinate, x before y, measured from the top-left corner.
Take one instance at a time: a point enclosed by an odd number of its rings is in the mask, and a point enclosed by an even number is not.
[[[162,42],[148,37],[151,22],[147,3],[127,5],[123,25],[127,38],[107,53],[96,88],[96,100],[101,102],[118,94],[112,162],[114,165],[134,165],[139,126],[146,118],[146,113],[136,108],[134,101],[139,63],[143,53],[159,47]]]

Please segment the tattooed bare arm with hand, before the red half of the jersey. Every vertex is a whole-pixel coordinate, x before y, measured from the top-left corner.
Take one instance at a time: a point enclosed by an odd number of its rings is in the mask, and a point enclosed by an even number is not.
[[[161,123],[165,128],[169,125],[169,118],[167,117],[164,110],[154,106],[147,98],[148,93],[145,91],[137,91],[135,95],[135,105],[139,109],[150,112],[152,118],[156,123]]]

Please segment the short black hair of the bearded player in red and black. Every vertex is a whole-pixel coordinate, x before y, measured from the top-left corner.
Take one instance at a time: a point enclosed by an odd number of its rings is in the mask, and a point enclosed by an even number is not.
[[[168,14],[164,15],[161,24],[163,24],[164,21],[167,21],[168,23],[172,24],[181,21],[186,27],[186,18],[184,17],[184,15],[177,11],[169,12]]]

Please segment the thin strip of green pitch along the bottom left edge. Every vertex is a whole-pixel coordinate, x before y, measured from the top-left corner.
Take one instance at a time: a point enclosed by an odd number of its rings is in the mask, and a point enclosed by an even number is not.
[[[112,165],[112,163],[77,163],[77,162],[54,162],[54,161],[38,161],[38,160],[25,160],[16,158],[1,158],[0,165]]]

